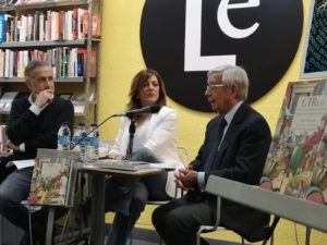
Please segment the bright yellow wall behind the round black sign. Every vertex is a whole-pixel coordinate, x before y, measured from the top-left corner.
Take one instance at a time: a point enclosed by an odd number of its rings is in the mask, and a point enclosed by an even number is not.
[[[144,2],[145,0],[104,0],[99,122],[110,114],[125,110],[131,79],[136,72],[145,68],[140,44],[140,22]],[[310,1],[303,0],[303,5],[305,27]],[[252,105],[264,114],[272,132],[288,82],[299,81],[304,35],[305,32],[302,35],[299,52],[287,74],[268,95]],[[168,103],[179,111],[179,144],[187,147],[190,159],[193,159],[203,142],[205,126],[215,114],[190,110],[170,99]],[[114,138],[119,122],[119,119],[112,119],[104,124],[100,128],[101,138]],[[145,222],[147,223],[149,222],[147,219],[149,213],[148,211],[143,215],[146,217]],[[300,230],[299,233],[303,235],[303,230]],[[290,237],[291,240],[288,240]],[[278,226],[276,235],[276,245],[284,244],[295,244],[293,225],[287,221],[282,221]],[[301,242],[301,244],[303,243]],[[322,244],[327,244],[327,235],[315,232],[312,245]]]

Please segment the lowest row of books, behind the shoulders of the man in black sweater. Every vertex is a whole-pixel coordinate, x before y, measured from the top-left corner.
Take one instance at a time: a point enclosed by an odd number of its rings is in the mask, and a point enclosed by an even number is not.
[[[26,93],[19,91],[5,91],[0,98],[0,113],[9,113],[11,110],[12,101],[15,98],[28,96]],[[85,96],[82,93],[76,94],[58,94],[61,98],[69,99],[74,106],[75,114],[83,114],[85,109]],[[93,100],[93,95],[90,95],[88,100]]]

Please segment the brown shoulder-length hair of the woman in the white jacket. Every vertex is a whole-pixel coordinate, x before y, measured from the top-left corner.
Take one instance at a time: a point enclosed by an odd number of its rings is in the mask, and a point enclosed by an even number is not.
[[[153,75],[155,75],[159,82],[159,98],[158,98],[158,101],[156,102],[156,105],[166,106],[166,103],[167,103],[166,88],[165,88],[162,77],[155,70],[145,69],[145,70],[140,71],[133,77],[132,85],[131,85],[130,93],[129,93],[130,101],[128,103],[128,110],[134,110],[134,109],[142,107],[140,98],[138,98],[138,93],[141,90],[141,88],[145,86],[148,78]]]

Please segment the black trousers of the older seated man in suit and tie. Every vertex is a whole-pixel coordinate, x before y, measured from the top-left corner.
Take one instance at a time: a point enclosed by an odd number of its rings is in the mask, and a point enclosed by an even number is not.
[[[199,225],[213,225],[215,218],[201,193],[171,200],[153,212],[153,223],[167,245],[195,245]]]

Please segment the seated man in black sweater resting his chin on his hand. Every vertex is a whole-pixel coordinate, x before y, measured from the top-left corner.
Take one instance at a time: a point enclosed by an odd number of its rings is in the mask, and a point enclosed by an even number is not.
[[[1,160],[1,166],[11,160],[34,159],[37,148],[57,148],[57,132],[61,122],[74,124],[74,108],[71,101],[55,96],[51,66],[45,61],[31,61],[24,72],[28,97],[14,99],[8,124],[8,147],[13,155]],[[29,244],[28,210],[21,204],[29,194],[33,168],[13,170],[0,184],[0,213],[25,231],[21,244]],[[33,213],[33,244],[45,244],[46,213]],[[38,223],[40,222],[40,223]]]

